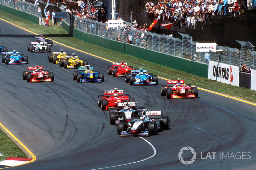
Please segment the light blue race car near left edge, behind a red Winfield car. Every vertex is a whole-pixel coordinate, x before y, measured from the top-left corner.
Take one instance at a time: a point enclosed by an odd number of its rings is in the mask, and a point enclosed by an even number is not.
[[[13,50],[13,52],[6,52],[6,55],[2,55],[2,63],[28,64],[28,56],[20,55],[20,52]]]

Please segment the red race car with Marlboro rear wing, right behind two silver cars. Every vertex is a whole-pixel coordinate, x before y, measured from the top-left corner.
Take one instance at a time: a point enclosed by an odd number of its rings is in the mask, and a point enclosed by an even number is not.
[[[123,90],[105,90],[105,95],[98,96],[98,106],[102,110],[109,110],[111,108],[117,108],[119,102],[134,102],[134,98],[131,98],[130,94],[124,94]]]

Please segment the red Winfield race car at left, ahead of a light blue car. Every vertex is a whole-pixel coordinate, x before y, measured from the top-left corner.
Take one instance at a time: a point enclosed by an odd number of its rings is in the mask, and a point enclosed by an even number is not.
[[[49,72],[49,70],[43,70],[43,67],[39,65],[36,65],[36,67],[28,67],[28,71],[22,72],[22,78],[23,80],[27,80],[27,82],[31,83],[54,81],[53,72]]]

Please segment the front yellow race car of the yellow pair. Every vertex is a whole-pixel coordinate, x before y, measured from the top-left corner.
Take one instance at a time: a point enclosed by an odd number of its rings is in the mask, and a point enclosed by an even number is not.
[[[65,69],[78,69],[81,66],[87,66],[88,61],[84,59],[79,59],[77,55],[72,54],[71,58],[68,58],[64,61]]]

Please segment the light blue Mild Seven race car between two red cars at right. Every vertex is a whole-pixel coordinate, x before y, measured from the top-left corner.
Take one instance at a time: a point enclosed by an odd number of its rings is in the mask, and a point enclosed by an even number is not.
[[[131,70],[131,74],[125,75],[125,82],[130,85],[157,85],[158,78],[152,73],[147,74],[147,70]]]

